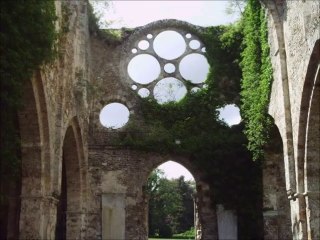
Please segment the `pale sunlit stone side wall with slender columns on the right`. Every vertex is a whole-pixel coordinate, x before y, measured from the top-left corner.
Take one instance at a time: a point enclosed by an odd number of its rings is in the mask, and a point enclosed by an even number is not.
[[[320,144],[319,110],[315,110],[319,108],[319,104],[316,106],[315,101],[319,102],[316,94],[319,92],[319,74],[316,83],[315,72],[320,59],[320,3],[303,0],[262,2],[268,8],[270,56],[273,66],[269,113],[274,118],[283,141],[284,161],[280,158],[277,164],[284,164],[289,198],[284,204],[288,204],[291,209],[293,237],[318,239],[320,216],[316,206],[320,204]],[[312,73],[309,74],[310,69]],[[315,93],[313,102],[308,93],[311,89],[314,89]],[[307,115],[310,114],[314,116],[312,125],[307,122]],[[308,131],[311,131],[309,136],[305,135]],[[311,151],[307,150],[307,138],[313,139],[308,143]],[[312,155],[313,160],[310,163],[307,162],[305,154]],[[312,165],[313,173],[310,168],[307,169],[308,164]],[[310,174],[312,179],[309,178]],[[308,192],[308,186],[309,197],[303,195]],[[308,204],[309,210],[306,209]],[[311,214],[315,214],[312,218],[310,213],[308,215],[311,208]]]

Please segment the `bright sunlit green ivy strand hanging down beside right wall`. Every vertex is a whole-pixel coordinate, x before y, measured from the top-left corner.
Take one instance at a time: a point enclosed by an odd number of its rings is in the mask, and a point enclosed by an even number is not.
[[[267,111],[272,81],[266,17],[258,0],[248,1],[243,21],[241,110],[248,149],[256,160],[263,158],[263,146],[270,128]]]

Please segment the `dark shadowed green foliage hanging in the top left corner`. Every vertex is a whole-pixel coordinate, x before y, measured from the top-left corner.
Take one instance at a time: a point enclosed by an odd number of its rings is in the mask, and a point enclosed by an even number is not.
[[[19,166],[17,109],[24,83],[55,56],[54,1],[1,1],[1,174]]]

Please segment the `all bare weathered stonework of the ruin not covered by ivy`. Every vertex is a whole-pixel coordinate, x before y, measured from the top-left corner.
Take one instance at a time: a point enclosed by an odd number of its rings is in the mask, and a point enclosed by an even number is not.
[[[280,153],[266,152],[264,237],[319,239],[320,3],[263,2],[268,10],[274,70],[269,113],[283,144]],[[113,139],[125,127],[107,130],[99,122],[101,109],[111,101],[125,104],[139,119],[138,98],[131,90],[126,65],[141,36],[166,29],[196,36],[202,29],[165,20],[128,31],[122,42],[109,44],[90,36],[86,1],[56,1],[56,7],[57,28],[63,10],[70,10],[69,31],[61,39],[59,57],[26,83],[25,108],[18,114],[21,206],[14,203],[8,211],[13,215],[20,207],[19,237],[55,238],[61,214],[65,214],[68,238],[102,239],[103,196],[121,194],[124,238],[147,239],[144,186],[153,169],[174,160],[188,168],[197,183],[198,235],[218,239],[211,189],[188,157],[121,149]],[[19,194],[15,193],[16,199]],[[10,229],[8,238],[14,238],[15,231]]]

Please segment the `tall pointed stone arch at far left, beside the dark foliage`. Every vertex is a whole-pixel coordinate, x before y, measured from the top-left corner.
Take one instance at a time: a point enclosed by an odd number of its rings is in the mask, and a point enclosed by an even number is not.
[[[49,125],[40,72],[23,91],[23,108],[18,113],[21,136],[20,238],[51,235],[50,215],[43,214],[55,204],[48,194],[50,182]],[[49,234],[49,235],[48,235]]]

